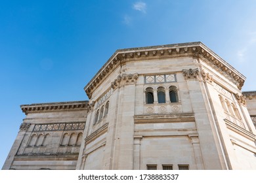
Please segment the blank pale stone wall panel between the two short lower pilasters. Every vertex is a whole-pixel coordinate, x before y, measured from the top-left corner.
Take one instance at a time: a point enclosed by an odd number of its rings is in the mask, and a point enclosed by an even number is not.
[[[135,158],[139,158],[135,163],[140,164],[135,165],[135,169],[147,169],[147,165],[156,165],[160,170],[162,165],[172,165],[173,169],[179,169],[178,165],[189,165],[189,169],[197,169],[188,136],[142,137],[140,144],[135,142]]]

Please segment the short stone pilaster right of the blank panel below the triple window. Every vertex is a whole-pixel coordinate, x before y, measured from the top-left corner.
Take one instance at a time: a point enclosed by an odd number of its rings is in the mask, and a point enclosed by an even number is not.
[[[203,170],[204,166],[203,166],[203,159],[202,159],[202,153],[201,153],[200,143],[198,139],[198,134],[188,135],[188,137],[192,141],[192,146],[193,146],[195,159],[196,159],[196,167],[198,168],[198,170]]]

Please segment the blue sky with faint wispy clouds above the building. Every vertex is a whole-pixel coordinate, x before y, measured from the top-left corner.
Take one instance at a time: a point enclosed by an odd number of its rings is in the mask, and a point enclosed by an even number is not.
[[[87,100],[117,49],[202,41],[256,90],[256,1],[0,1],[0,168],[20,105]]]

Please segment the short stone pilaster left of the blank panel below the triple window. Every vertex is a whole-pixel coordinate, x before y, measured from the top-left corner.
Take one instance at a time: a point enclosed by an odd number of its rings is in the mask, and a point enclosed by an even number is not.
[[[134,137],[134,149],[133,149],[133,169],[140,169],[140,141],[142,136]]]

